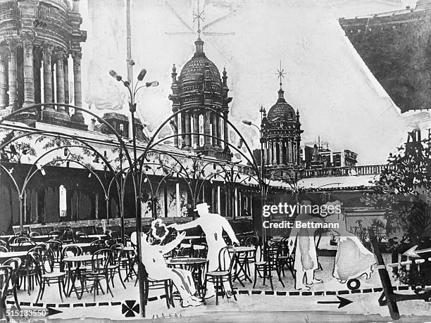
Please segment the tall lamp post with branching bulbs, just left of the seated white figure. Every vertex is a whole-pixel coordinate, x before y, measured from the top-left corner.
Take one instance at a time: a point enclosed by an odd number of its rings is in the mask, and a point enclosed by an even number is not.
[[[132,167],[132,178],[135,183],[135,205],[136,205],[136,236],[137,236],[137,257],[138,257],[138,280],[139,280],[139,303],[141,305],[141,315],[145,317],[145,300],[144,300],[144,268],[142,267],[142,241],[141,241],[141,233],[142,233],[142,210],[141,210],[141,201],[140,201],[140,176],[138,174],[139,167],[137,166],[137,148],[136,148],[136,125],[135,125],[135,113],[136,113],[136,101],[135,96],[139,89],[144,87],[156,87],[158,85],[157,81],[154,82],[145,82],[144,85],[140,85],[138,87],[139,82],[144,80],[146,75],[146,70],[143,68],[139,75],[137,76],[138,82],[135,84],[135,88],[132,89],[130,82],[123,81],[123,77],[118,75],[114,70],[109,71],[109,75],[111,75],[118,82],[123,82],[124,86],[127,87],[130,94],[129,101],[129,110],[132,119],[132,143],[133,143],[133,167]],[[129,128],[130,129],[130,128]],[[129,134],[130,135],[130,134]],[[139,194],[138,194],[139,192]]]

